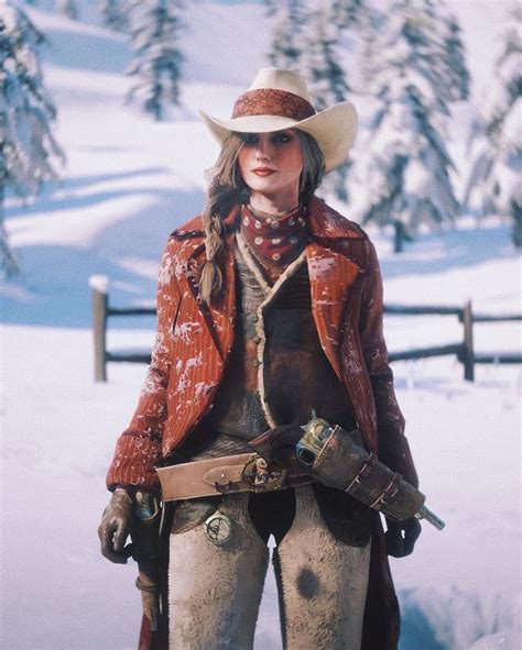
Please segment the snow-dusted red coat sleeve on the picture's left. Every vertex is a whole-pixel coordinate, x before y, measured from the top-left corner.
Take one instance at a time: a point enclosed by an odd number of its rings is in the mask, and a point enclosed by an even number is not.
[[[118,438],[107,473],[107,487],[135,486],[157,493],[154,466],[162,460],[162,438],[167,417],[166,389],[172,364],[172,332],[181,302],[175,276],[175,240],[163,254],[157,282],[157,330],[151,364],[129,427]]]

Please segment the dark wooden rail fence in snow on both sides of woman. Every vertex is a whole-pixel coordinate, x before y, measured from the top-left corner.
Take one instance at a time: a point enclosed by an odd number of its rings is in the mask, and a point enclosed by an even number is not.
[[[109,305],[108,280],[104,277],[93,277],[89,283],[93,291],[93,331],[95,342],[95,381],[107,381],[107,363],[134,362],[150,363],[151,355],[145,351],[119,351],[107,350],[108,320],[119,316],[154,316],[154,307],[118,308]],[[522,352],[476,352],[474,348],[474,323],[477,322],[507,322],[521,321],[522,313],[487,315],[474,313],[471,301],[464,307],[448,306],[412,306],[412,305],[385,305],[384,313],[400,316],[453,316],[463,324],[463,338],[455,343],[415,348],[410,350],[390,351],[390,362],[406,361],[411,359],[427,359],[431,356],[456,355],[464,365],[464,378],[475,381],[475,365],[477,363],[522,363]]]

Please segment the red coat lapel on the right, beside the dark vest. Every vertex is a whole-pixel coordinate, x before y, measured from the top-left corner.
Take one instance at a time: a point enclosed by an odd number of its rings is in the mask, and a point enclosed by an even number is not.
[[[342,255],[317,242],[306,246],[306,260],[312,294],[312,312],[320,344],[341,382],[340,340],[342,316],[349,289],[360,267]]]

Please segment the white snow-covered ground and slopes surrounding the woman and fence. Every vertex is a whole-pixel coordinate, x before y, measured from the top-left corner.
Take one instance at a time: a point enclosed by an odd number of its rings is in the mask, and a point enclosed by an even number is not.
[[[259,4],[187,4],[185,107],[177,121],[159,124],[123,107],[123,38],[31,11],[51,40],[45,75],[67,166],[59,186],[34,202],[8,201],[23,272],[2,287],[0,645],[7,650],[135,646],[135,568],[105,561],[96,529],[107,465],[144,367],[111,364],[109,382],[94,383],[88,277],[108,275],[115,304],[153,300],[165,238],[200,209],[203,172],[217,152],[196,108],[227,114],[264,63],[268,42]],[[482,47],[483,21],[500,22],[503,4],[455,2],[461,20],[469,19],[463,26],[471,54]],[[213,54],[210,43],[232,40],[235,49]],[[483,48],[478,56],[476,69],[486,76]],[[454,150],[464,147],[455,142]],[[463,220],[456,231],[422,235],[400,257],[385,236],[376,233],[376,242],[390,302],[470,298],[480,311],[521,309],[520,256],[498,220],[480,228]],[[110,348],[150,344],[150,320],[112,326]],[[389,317],[385,327],[391,350],[461,337],[450,317]],[[516,323],[476,327],[479,351],[520,344]],[[453,359],[394,370],[421,487],[447,522],[442,532],[425,525],[415,553],[392,562],[401,650],[515,650],[522,647],[520,366],[477,367],[475,384],[461,379]],[[281,648],[271,577],[255,648]]]

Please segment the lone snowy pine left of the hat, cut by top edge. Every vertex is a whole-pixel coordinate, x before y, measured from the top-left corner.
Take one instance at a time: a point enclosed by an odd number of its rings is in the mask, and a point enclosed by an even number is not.
[[[178,47],[181,3],[177,0],[142,0],[133,11],[133,60],[128,74],[138,78],[128,99],[139,97],[156,120],[165,104],[180,106],[183,55]]]

